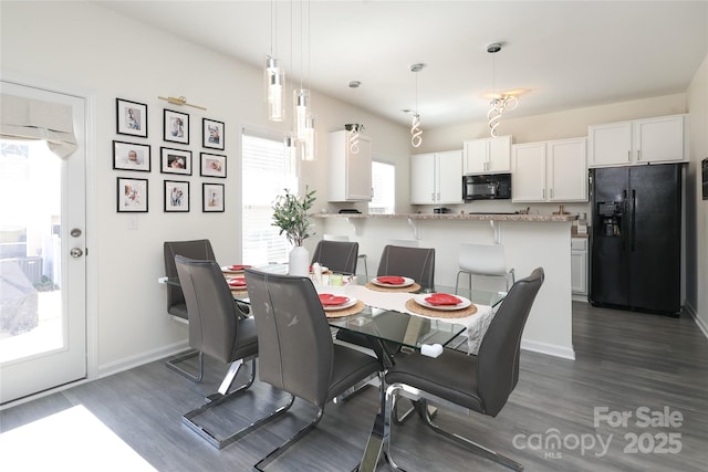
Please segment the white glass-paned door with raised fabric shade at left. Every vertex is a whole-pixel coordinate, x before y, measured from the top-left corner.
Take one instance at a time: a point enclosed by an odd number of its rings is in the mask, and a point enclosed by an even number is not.
[[[0,403],[7,403],[86,377],[86,116],[82,97],[0,85],[6,104],[11,95],[37,101],[43,113],[59,105],[77,144],[60,158],[45,140],[0,139]],[[4,118],[3,111],[2,133]]]

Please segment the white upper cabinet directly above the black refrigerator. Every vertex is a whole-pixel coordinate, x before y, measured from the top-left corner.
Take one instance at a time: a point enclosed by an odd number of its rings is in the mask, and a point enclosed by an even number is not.
[[[590,126],[590,167],[685,161],[687,119],[671,115]]]

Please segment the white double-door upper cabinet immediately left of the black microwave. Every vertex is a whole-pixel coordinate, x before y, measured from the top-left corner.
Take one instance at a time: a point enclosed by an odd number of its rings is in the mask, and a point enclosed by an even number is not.
[[[410,156],[410,203],[462,202],[462,151]]]

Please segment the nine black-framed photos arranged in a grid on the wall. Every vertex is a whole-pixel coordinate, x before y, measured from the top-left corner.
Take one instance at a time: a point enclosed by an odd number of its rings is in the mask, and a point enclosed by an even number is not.
[[[163,188],[163,211],[189,212],[191,203],[201,203],[201,211],[225,211],[227,157],[225,123],[201,118],[201,129],[194,130],[188,113],[163,109],[162,143],[153,149],[147,129],[147,105],[116,98],[116,134],[113,140],[113,169],[116,177],[116,211],[147,212],[149,185]],[[190,136],[200,135],[198,149],[190,145]],[[185,180],[199,168],[199,181]],[[156,178],[153,169],[159,169]],[[128,174],[131,172],[131,174]],[[142,175],[133,172],[144,172]],[[135,176],[135,177],[134,177]],[[200,183],[200,188],[195,189]],[[191,186],[194,185],[194,186]],[[200,190],[200,191],[199,191]],[[195,193],[197,192],[197,193]]]

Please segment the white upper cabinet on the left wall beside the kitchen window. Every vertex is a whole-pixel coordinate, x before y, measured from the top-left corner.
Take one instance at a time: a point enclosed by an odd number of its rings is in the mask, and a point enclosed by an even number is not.
[[[330,199],[329,201],[371,201],[372,139],[358,136],[358,153],[353,154],[348,132],[330,133]]]

